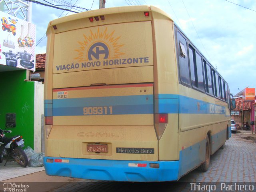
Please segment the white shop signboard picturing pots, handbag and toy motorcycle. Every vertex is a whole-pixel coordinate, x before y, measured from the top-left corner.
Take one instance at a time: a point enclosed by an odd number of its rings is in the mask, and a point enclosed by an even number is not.
[[[0,64],[35,71],[36,26],[0,12]]]

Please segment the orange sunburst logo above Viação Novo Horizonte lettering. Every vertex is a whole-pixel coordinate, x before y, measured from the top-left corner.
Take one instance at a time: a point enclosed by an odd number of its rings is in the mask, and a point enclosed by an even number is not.
[[[121,51],[124,44],[120,44],[121,36],[115,36],[115,30],[108,32],[108,28],[100,31],[98,27],[97,32],[90,30],[90,35],[84,34],[84,40],[78,41],[80,48],[75,51],[78,56],[74,58],[79,62],[86,62],[89,60],[115,59],[120,58],[125,53]]]

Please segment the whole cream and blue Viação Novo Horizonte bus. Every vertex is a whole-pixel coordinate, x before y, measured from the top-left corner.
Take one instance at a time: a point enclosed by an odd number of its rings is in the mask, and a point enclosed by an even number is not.
[[[82,12],[47,37],[46,174],[176,181],[231,136],[227,82],[162,10]]]

